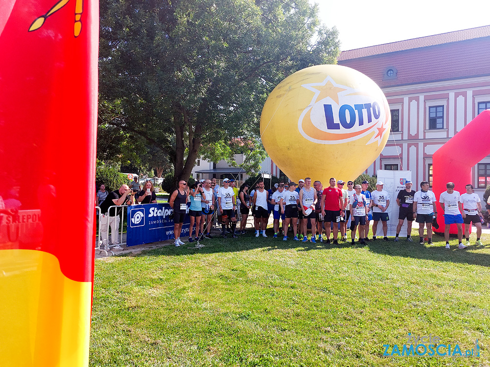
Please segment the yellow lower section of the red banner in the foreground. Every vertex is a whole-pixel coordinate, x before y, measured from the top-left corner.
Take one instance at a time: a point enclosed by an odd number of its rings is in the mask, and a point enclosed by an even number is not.
[[[61,273],[35,250],[0,251],[0,364],[88,365],[92,283]]]

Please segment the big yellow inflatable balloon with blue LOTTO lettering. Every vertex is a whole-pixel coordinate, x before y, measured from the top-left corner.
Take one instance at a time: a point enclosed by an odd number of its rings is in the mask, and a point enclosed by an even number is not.
[[[296,71],[267,98],[260,117],[269,157],[296,183],[355,180],[390,135],[390,107],[363,73],[340,65]]]

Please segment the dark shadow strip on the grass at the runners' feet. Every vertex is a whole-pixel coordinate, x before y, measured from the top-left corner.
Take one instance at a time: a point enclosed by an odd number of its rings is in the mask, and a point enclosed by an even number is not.
[[[453,263],[471,264],[490,267],[490,253],[486,250],[490,248],[489,245],[485,247],[477,247],[475,245],[468,246],[466,250],[459,250],[457,245],[451,245],[451,249],[445,248],[445,241],[442,237],[435,235],[433,237],[434,245],[428,246],[420,245],[418,243],[418,237],[414,237],[414,242],[407,242],[405,238],[400,238],[399,242],[394,242],[393,238],[384,241],[383,239],[377,239],[376,241],[369,241],[367,244],[362,245],[359,242],[352,244],[351,242],[340,242],[338,245],[326,244],[325,242],[317,243],[293,241],[291,238],[288,241],[282,241],[282,238],[272,238],[272,230],[267,231],[268,238],[262,236],[256,238],[252,232],[239,236],[239,238],[221,238],[216,235],[213,239],[204,239],[200,241],[205,247],[194,250],[188,249],[194,245],[194,243],[187,243],[179,248],[174,246],[164,246],[158,249],[152,249],[143,251],[140,253],[132,254],[126,253],[120,256],[184,256],[193,253],[216,253],[216,252],[241,252],[253,249],[263,249],[262,251],[274,251],[274,250],[286,250],[297,249],[297,251],[329,251],[344,248],[367,248],[368,251],[400,257],[411,257],[414,259],[424,259],[433,261],[447,261]],[[454,241],[452,241],[454,243]],[[475,252],[473,252],[475,251]],[[485,251],[485,252],[482,252]]]

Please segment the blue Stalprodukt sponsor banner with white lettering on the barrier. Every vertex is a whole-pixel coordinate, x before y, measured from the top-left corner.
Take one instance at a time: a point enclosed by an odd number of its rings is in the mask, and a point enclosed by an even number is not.
[[[189,204],[187,204],[189,212]],[[173,239],[173,209],[169,204],[132,205],[127,210],[126,246]],[[189,235],[189,216],[182,225],[181,237]]]

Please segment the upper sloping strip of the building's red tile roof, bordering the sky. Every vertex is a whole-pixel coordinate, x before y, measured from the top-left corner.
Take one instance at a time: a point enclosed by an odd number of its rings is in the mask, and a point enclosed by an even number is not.
[[[482,27],[463,29],[454,32],[435,34],[433,36],[413,38],[411,40],[392,42],[389,44],[356,48],[342,51],[338,60],[358,59],[366,56],[380,55],[384,53],[403,51],[413,48],[442,45],[451,42],[466,41],[475,38],[489,37],[490,25]]]

